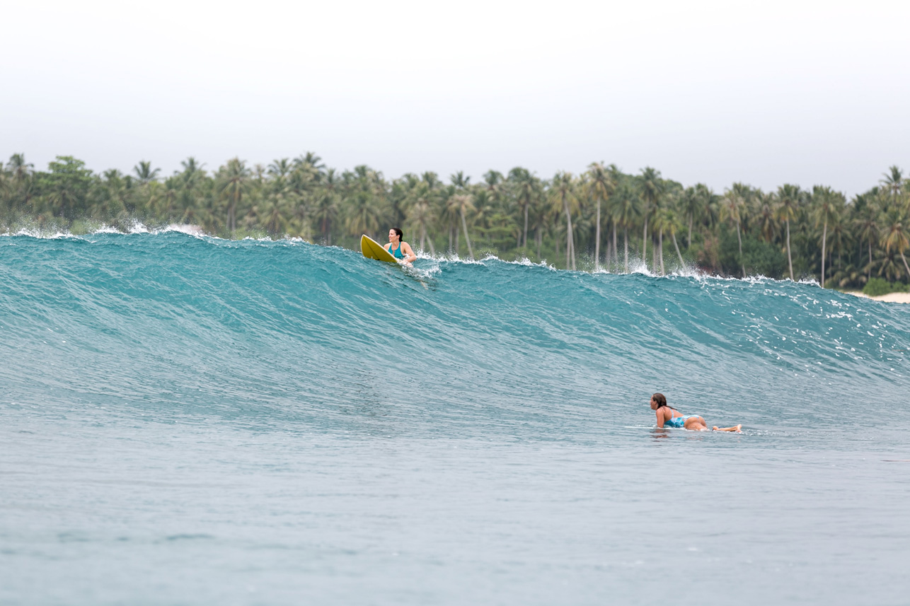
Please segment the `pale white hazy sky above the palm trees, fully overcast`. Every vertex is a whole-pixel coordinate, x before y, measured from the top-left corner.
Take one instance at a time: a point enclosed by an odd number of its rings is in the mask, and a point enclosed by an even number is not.
[[[910,167],[910,2],[43,2],[0,19],[0,155],[312,150],[386,177],[593,161],[684,185]]]

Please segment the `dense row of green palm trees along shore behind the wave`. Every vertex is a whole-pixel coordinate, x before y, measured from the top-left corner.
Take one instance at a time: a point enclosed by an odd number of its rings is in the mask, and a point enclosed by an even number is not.
[[[74,157],[36,171],[14,154],[0,171],[0,224],[8,231],[184,223],[223,237],[346,247],[361,233],[401,226],[432,255],[545,258],[595,271],[628,272],[632,264],[661,274],[668,265],[697,266],[840,288],[873,276],[910,281],[910,183],[898,167],[849,201],[831,187],[792,184],[765,192],[734,183],[717,193],[682,187],[652,167],[627,174],[602,162],[549,179],[522,167],[490,170],[477,183],[462,172],[448,183],[432,172],[390,181],[367,166],[339,172],[312,152],[267,166],[235,157],[211,171],[189,157],[171,176],[160,172],[141,161],[129,175],[94,173]]]

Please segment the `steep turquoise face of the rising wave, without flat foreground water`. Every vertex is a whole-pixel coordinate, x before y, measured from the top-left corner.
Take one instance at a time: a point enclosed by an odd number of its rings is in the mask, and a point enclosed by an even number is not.
[[[722,422],[838,428],[844,411],[825,403],[861,399],[850,414],[873,422],[908,384],[905,308],[806,284],[496,259],[408,270],[179,233],[0,242],[0,379],[20,402],[597,439],[650,420],[652,391]]]

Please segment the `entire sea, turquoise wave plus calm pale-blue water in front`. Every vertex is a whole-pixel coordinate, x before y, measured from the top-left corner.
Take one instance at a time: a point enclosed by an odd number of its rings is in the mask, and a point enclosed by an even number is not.
[[[0,237],[0,603],[906,604],[908,348],[810,283]]]

